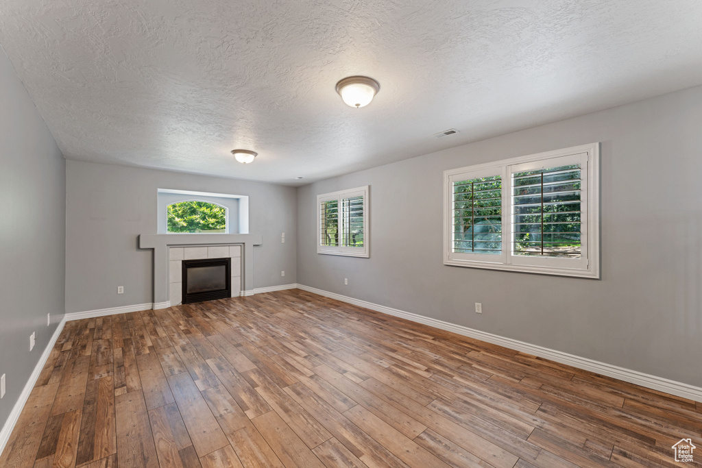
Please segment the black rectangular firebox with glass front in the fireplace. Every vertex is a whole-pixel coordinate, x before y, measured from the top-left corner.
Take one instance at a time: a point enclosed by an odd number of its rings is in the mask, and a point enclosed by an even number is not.
[[[231,296],[231,258],[183,260],[183,304]]]

